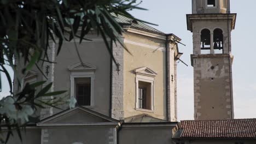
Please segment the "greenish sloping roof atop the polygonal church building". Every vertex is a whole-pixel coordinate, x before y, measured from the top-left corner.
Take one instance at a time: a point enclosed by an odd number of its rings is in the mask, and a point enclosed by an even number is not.
[[[144,31],[148,31],[148,32],[153,32],[153,33],[158,33],[158,34],[164,34],[164,32],[159,31],[158,29],[155,29],[149,25],[147,25],[146,23],[143,22],[139,22],[136,20],[132,20],[128,17],[125,17],[123,15],[115,15],[112,13],[112,16],[115,17],[115,20],[117,20],[117,22],[124,24],[124,25],[131,25],[132,28],[136,28],[136,29],[142,29]]]

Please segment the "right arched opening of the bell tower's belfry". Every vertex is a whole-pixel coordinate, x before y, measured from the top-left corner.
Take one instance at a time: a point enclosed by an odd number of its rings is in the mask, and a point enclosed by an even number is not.
[[[216,28],[213,31],[213,49],[214,53],[223,53],[223,32]]]

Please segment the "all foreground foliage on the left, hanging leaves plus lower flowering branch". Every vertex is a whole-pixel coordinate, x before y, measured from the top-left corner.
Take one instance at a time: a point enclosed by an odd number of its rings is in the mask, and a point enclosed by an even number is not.
[[[82,43],[83,40],[90,40],[86,35],[91,31],[101,35],[110,57],[117,64],[111,51],[112,43],[120,43],[125,48],[120,41],[124,30],[113,15],[137,20],[127,11],[142,9],[137,7],[138,4],[136,0],[0,0],[0,72],[8,78],[10,87],[10,96],[0,100],[1,127],[8,128],[7,139],[1,139],[2,142],[8,140],[12,129],[16,129],[20,136],[19,127],[30,122],[29,117],[38,107],[56,107],[67,103],[59,97],[64,91],[48,92],[51,83],[38,93],[36,89],[44,82],[27,84],[22,88],[22,76],[18,74],[26,74],[35,65],[42,72],[40,65],[53,63],[47,53],[51,49],[50,43],[57,43],[59,55],[63,41],[79,39],[79,43]],[[77,44],[74,43],[74,46],[82,61]],[[18,62],[22,64],[17,66]],[[19,92],[13,92],[5,65],[9,65],[17,74],[15,80]],[[75,99],[70,99],[69,106],[74,104]]]

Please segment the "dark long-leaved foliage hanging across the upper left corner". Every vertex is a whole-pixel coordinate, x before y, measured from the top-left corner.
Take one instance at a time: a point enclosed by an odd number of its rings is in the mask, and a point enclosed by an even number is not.
[[[42,59],[49,61],[46,51],[50,49],[50,41],[59,40],[58,55],[64,40],[71,41],[74,37],[78,37],[81,43],[91,29],[102,35],[112,56],[111,44],[107,38],[114,42],[119,41],[123,28],[111,13],[132,17],[127,10],[138,9],[132,5],[135,2],[127,0],[1,0],[0,48],[2,52],[0,58],[2,59],[0,61],[4,63],[3,55],[6,55],[9,64],[14,66],[12,59],[22,58],[22,61],[27,64],[23,71],[25,73],[38,61]]]

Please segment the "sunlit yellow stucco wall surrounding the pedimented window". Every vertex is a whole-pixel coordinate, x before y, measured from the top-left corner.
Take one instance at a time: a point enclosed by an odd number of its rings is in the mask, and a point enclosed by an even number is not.
[[[124,117],[136,116],[147,113],[153,117],[166,119],[166,90],[165,90],[165,51],[154,49],[150,46],[165,47],[164,41],[149,39],[147,37],[124,34],[125,45],[131,52],[124,51]],[[135,41],[131,44],[127,41]],[[154,80],[154,112],[136,110],[136,74],[133,70],[148,67],[158,75]]]

